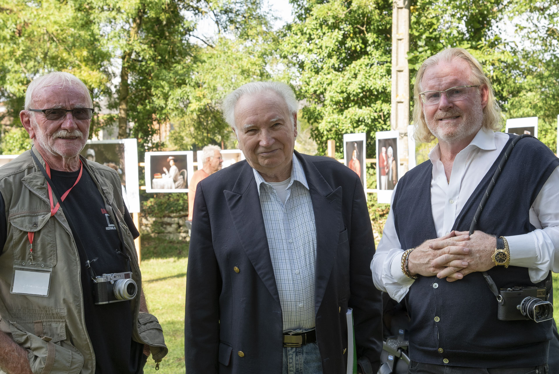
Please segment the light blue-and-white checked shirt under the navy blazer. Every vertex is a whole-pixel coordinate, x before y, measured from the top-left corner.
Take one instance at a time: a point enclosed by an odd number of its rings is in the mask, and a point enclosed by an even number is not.
[[[253,172],[280,296],[283,332],[314,329],[316,225],[305,171],[293,155],[285,203],[276,188],[256,169]]]

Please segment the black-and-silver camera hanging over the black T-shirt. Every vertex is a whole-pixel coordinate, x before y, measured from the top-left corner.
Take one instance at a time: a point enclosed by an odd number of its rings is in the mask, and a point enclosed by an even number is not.
[[[111,273],[93,279],[93,300],[95,304],[132,300],[136,297],[138,286],[131,272]]]

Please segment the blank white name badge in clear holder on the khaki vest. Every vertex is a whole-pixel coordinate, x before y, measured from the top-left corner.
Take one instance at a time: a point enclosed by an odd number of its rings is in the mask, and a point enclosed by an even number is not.
[[[53,266],[44,262],[14,261],[10,293],[49,296]]]

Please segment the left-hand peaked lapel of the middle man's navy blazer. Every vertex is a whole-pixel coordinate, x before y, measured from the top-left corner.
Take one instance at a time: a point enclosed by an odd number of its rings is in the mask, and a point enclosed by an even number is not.
[[[274,300],[280,302],[260,198],[252,168],[245,163],[233,191],[223,191],[231,219],[250,262]]]

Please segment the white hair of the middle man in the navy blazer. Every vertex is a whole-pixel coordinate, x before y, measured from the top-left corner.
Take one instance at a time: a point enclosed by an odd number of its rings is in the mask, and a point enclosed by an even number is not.
[[[243,84],[243,86],[235,89],[235,91],[228,94],[223,100],[222,111],[225,122],[227,122],[228,125],[233,127],[233,130],[235,130],[235,105],[239,99],[245,94],[253,95],[268,90],[277,93],[281,98],[283,98],[283,100],[285,100],[287,109],[291,114],[297,113],[297,110],[299,109],[299,102],[295,98],[295,93],[290,86],[285,83],[273,81],[251,82]],[[295,123],[293,123],[293,117],[290,116],[290,118],[291,124],[295,125]]]

